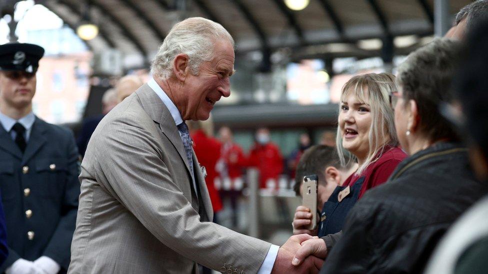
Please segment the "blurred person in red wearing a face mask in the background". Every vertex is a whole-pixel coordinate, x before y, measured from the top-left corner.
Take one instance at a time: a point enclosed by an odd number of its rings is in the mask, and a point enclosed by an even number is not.
[[[271,142],[267,128],[256,131],[255,141],[249,155],[249,166],[259,170],[261,188],[276,189],[278,177],[283,171],[283,157],[278,146]]]

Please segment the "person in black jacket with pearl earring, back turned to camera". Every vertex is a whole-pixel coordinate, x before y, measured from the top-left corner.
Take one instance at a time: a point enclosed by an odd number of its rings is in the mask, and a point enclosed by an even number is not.
[[[411,156],[350,211],[320,273],[421,273],[445,231],[488,193],[439,111],[452,99],[449,86],[459,52],[455,41],[437,39],[398,68],[395,128]]]

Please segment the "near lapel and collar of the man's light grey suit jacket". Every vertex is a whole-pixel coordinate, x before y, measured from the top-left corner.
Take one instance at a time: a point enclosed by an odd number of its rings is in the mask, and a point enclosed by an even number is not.
[[[173,144],[174,148],[181,157],[181,160],[186,166],[186,171],[188,173],[193,172],[190,171],[188,160],[186,159],[183,142],[181,141],[181,137],[179,136],[178,128],[174,124],[174,119],[164,103],[147,84],[142,85],[137,91],[135,91],[135,93],[139,97],[142,108],[147,112],[147,114],[154,122],[159,124],[161,132],[169,139],[171,144]],[[193,187],[191,187],[191,189],[193,189]]]

